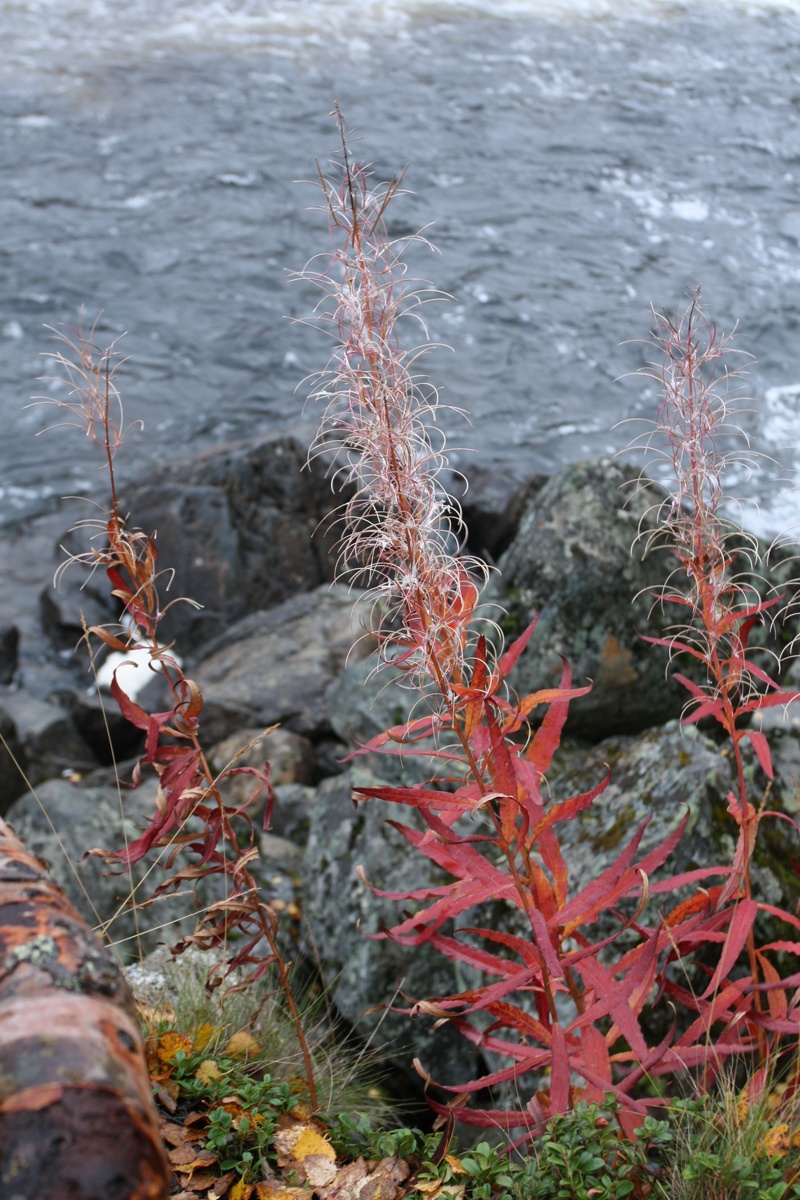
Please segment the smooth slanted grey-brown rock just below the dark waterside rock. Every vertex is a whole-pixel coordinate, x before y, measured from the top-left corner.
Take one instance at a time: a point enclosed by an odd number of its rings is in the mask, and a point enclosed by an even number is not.
[[[237,622],[194,672],[209,740],[257,724],[311,738],[329,732],[325,689],[348,655],[374,644],[365,636],[371,608],[363,594],[321,587]]]

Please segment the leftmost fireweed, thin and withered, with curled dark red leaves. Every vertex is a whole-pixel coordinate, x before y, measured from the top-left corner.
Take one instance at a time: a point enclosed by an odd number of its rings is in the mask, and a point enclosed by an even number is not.
[[[188,679],[170,647],[160,642],[160,625],[173,604],[162,604],[170,574],[156,565],[156,545],[139,529],[128,528],[120,512],[115,457],[128,432],[124,424],[122,403],[115,376],[120,366],[116,344],[98,349],[92,336],[82,330],[73,336],[54,331],[62,348],[48,355],[56,376],[67,385],[66,400],[49,400],[65,413],[62,424],[76,425],[97,444],[107,469],[110,503],[102,517],[80,522],[92,532],[98,542],[70,563],[83,563],[90,570],[104,569],[110,594],[120,606],[116,626],[92,625],[84,636],[92,653],[97,643],[124,654],[145,652],[150,670],[164,679],[169,707],[149,713],[132,700],[120,685],[116,674],[110,685],[120,712],[145,734],[145,749],[136,764],[130,787],[137,787],[145,774],[158,779],[156,811],[148,828],[134,841],[110,856],[124,869],[157,851],[168,872],[151,896],[131,902],[138,907],[158,896],[174,892],[185,883],[193,889],[209,876],[224,883],[224,895],[199,910],[193,934],[182,937],[174,954],[190,946],[201,949],[222,949],[223,958],[209,972],[209,986],[218,986],[228,977],[228,991],[236,992],[261,979],[269,968],[277,972],[282,992],[294,1024],[301,1049],[308,1093],[317,1108],[311,1051],[302,1021],[291,991],[289,970],[277,944],[277,916],[259,894],[249,864],[258,858],[253,827],[247,808],[266,792],[264,828],[269,827],[273,792],[269,763],[263,769],[229,764],[215,774],[200,744],[200,713],[203,697],[197,684]],[[94,334],[94,330],[92,330]],[[254,779],[254,792],[245,804],[231,805],[224,799],[225,780],[247,774]],[[191,818],[191,829],[187,826]],[[108,858],[106,851],[90,853]],[[134,889],[136,892],[136,889]],[[266,949],[265,949],[266,947]],[[233,974],[235,972],[235,974]],[[230,978],[233,976],[233,978]]]

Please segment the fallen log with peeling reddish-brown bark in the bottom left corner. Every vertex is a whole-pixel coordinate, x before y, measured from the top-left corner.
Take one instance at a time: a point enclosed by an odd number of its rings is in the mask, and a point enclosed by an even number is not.
[[[0,1196],[164,1200],[127,982],[0,820]]]

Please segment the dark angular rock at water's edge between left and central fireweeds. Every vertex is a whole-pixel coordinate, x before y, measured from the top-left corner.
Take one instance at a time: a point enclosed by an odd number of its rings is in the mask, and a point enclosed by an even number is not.
[[[160,566],[174,571],[170,596],[203,606],[174,606],[163,638],[191,648],[332,580],[324,518],[339,502],[324,466],[305,462],[299,442],[271,437],[217,446],[175,463],[167,480],[126,490],[132,522],[157,532]]]

